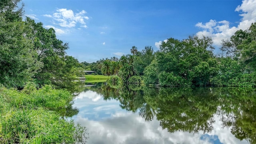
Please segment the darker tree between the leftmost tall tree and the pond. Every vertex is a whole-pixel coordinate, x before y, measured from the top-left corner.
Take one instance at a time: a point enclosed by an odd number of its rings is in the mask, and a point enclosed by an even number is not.
[[[33,49],[38,53],[37,59],[44,64],[34,77],[36,82],[40,85],[70,86],[75,80],[72,69],[78,67],[79,62],[66,55],[68,43],[57,39],[55,30],[44,28],[41,22],[35,23],[26,18],[25,23],[28,28],[26,37],[33,41]]]

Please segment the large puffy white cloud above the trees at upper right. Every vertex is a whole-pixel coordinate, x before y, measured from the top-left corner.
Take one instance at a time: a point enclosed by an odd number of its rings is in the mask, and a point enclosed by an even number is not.
[[[216,46],[221,46],[221,40],[230,38],[237,30],[246,30],[253,22],[256,22],[256,0],[243,0],[242,4],[237,6],[236,12],[240,12],[241,21],[237,26],[230,27],[230,22],[226,20],[209,22],[198,22],[196,26],[202,31],[196,33],[200,38],[210,36]]]

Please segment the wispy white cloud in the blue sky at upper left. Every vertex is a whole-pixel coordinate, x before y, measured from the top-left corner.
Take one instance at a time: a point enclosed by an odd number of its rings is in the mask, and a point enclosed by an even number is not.
[[[54,18],[55,24],[58,24],[64,28],[74,28],[77,24],[81,27],[88,28],[86,26],[86,20],[89,20],[88,16],[84,16],[86,11],[82,10],[78,13],[74,13],[73,10],[67,10],[66,8],[60,8],[56,10],[53,15],[45,14],[46,17]]]

